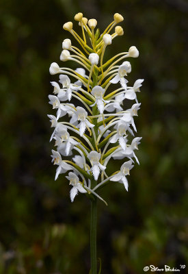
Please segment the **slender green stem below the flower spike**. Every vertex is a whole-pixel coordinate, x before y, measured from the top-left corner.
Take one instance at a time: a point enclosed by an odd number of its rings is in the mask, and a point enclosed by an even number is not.
[[[93,181],[93,186],[96,186],[96,181]],[[97,274],[96,263],[96,221],[97,221],[97,199],[91,201],[91,227],[90,227],[90,257],[91,257],[91,274]]]

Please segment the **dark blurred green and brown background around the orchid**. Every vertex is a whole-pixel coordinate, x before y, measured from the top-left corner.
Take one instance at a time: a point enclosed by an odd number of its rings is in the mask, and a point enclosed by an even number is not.
[[[139,274],[150,264],[180,268],[188,262],[187,1],[1,0],[0,273],[90,268],[90,202],[78,195],[70,203],[64,175],[54,181],[46,116],[54,114],[49,66],[60,64],[62,40],[70,38],[62,25],[77,12],[96,18],[102,30],[115,12],[122,14],[124,36],[105,58],[135,45],[140,55],[130,59],[129,83],[145,79],[135,119],[143,137],[140,166],[128,178],[129,192],[114,183],[100,191],[109,204],[98,202],[102,273]]]

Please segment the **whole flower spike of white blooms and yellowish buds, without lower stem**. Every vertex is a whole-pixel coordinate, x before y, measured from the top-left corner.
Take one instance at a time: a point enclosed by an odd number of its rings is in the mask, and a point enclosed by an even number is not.
[[[53,62],[49,69],[51,75],[59,73],[59,84],[51,82],[54,95],[49,95],[49,103],[57,110],[56,116],[48,115],[51,127],[54,127],[51,140],[55,140],[57,147],[52,150],[52,162],[57,165],[55,179],[68,171],[66,178],[72,186],[71,201],[78,192],[87,193],[91,198],[96,195],[104,201],[96,190],[111,181],[124,184],[128,190],[126,176],[135,161],[139,164],[135,150],[141,137],[134,137],[137,132],[134,117],[140,107],[137,92],[144,79],[137,79],[129,86],[126,77],[131,73],[131,63],[124,61],[137,58],[139,51],[132,46],[129,51],[103,62],[106,48],[113,44],[114,38],[124,34],[122,27],[117,25],[123,20],[122,15],[114,14],[113,21],[100,34],[96,19],[88,21],[79,12],[75,21],[79,22],[82,37],[75,32],[72,22],[65,23],[64,29],[79,42],[82,50],[73,46],[70,39],[65,39],[60,55],[63,62],[72,60],[79,67],[73,70]],[[113,88],[118,83],[120,87]],[[80,105],[71,103],[72,98]],[[125,99],[133,101],[132,107],[126,110]],[[67,114],[69,122],[59,121]],[[127,138],[129,134],[133,136],[131,142]],[[108,174],[107,164],[114,159],[125,159],[124,164],[119,171]]]

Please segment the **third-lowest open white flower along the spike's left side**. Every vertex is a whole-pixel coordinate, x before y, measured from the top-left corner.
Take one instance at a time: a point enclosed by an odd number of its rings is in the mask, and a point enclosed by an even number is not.
[[[66,148],[65,148],[66,155],[68,155],[70,153],[71,145],[77,145],[78,144],[77,141],[70,138],[70,134],[68,133],[68,131],[64,127],[63,128],[58,127],[57,133],[55,134],[55,138],[57,140],[56,145],[58,146],[58,145],[61,145],[61,142],[59,142],[59,139],[57,138],[57,136],[59,136],[61,138],[62,142],[66,142]],[[61,149],[61,147],[59,147],[59,149]]]

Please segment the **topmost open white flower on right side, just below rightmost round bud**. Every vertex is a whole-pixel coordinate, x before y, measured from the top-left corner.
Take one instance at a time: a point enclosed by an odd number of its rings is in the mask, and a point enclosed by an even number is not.
[[[126,83],[128,83],[127,79],[124,79],[124,76],[127,75],[127,73],[131,72],[131,64],[129,61],[123,62],[118,69],[118,74],[113,77],[109,82],[111,82],[112,84],[117,84],[118,82],[120,82],[120,84],[122,85],[122,88],[124,88],[124,90],[126,90]]]

